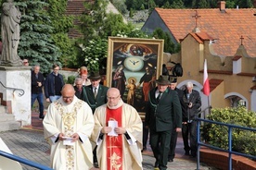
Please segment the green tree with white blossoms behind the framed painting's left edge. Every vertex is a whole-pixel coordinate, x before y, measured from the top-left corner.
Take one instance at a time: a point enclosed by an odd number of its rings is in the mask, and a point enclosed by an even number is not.
[[[106,6],[104,0],[97,0],[95,4],[85,2],[85,8],[88,11],[81,18],[82,26],[80,28],[84,39],[78,42],[82,49],[82,55],[79,55],[77,60],[80,61],[80,64],[88,67],[90,71],[106,67],[106,62],[102,61],[107,57],[108,36],[115,36],[119,32],[129,32],[133,29],[131,24],[123,22],[122,15],[107,14]]]

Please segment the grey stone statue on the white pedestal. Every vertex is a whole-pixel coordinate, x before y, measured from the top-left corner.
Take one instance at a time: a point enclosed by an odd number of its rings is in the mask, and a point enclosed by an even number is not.
[[[22,66],[22,61],[18,55],[20,18],[21,13],[19,8],[14,6],[13,0],[6,0],[2,6],[1,16],[3,49],[0,62],[2,66]]]

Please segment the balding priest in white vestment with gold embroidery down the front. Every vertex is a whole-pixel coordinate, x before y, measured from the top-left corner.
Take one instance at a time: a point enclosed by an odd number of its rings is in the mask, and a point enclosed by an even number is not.
[[[61,98],[51,103],[43,121],[45,140],[51,145],[51,167],[55,170],[93,168],[92,145],[94,128],[90,106],[75,96],[70,84],[61,91]]]

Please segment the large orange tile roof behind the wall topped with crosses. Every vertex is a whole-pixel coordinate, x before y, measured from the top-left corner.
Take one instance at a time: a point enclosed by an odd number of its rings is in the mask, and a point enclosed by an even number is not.
[[[188,33],[195,29],[195,9],[163,9],[155,8],[163,22],[173,33],[177,42],[184,39]],[[198,29],[206,32],[217,41],[213,44],[214,51],[218,55],[233,56],[242,43],[248,55],[256,57],[256,9],[240,8],[225,9],[219,8],[197,9]],[[204,37],[204,35],[201,35]]]

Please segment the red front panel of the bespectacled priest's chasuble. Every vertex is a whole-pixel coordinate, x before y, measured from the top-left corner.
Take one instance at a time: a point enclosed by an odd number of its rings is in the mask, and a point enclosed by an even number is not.
[[[107,107],[106,125],[109,120],[117,121],[118,127],[122,127],[122,106],[117,109]],[[108,170],[122,170],[122,135],[107,135],[107,158]]]

